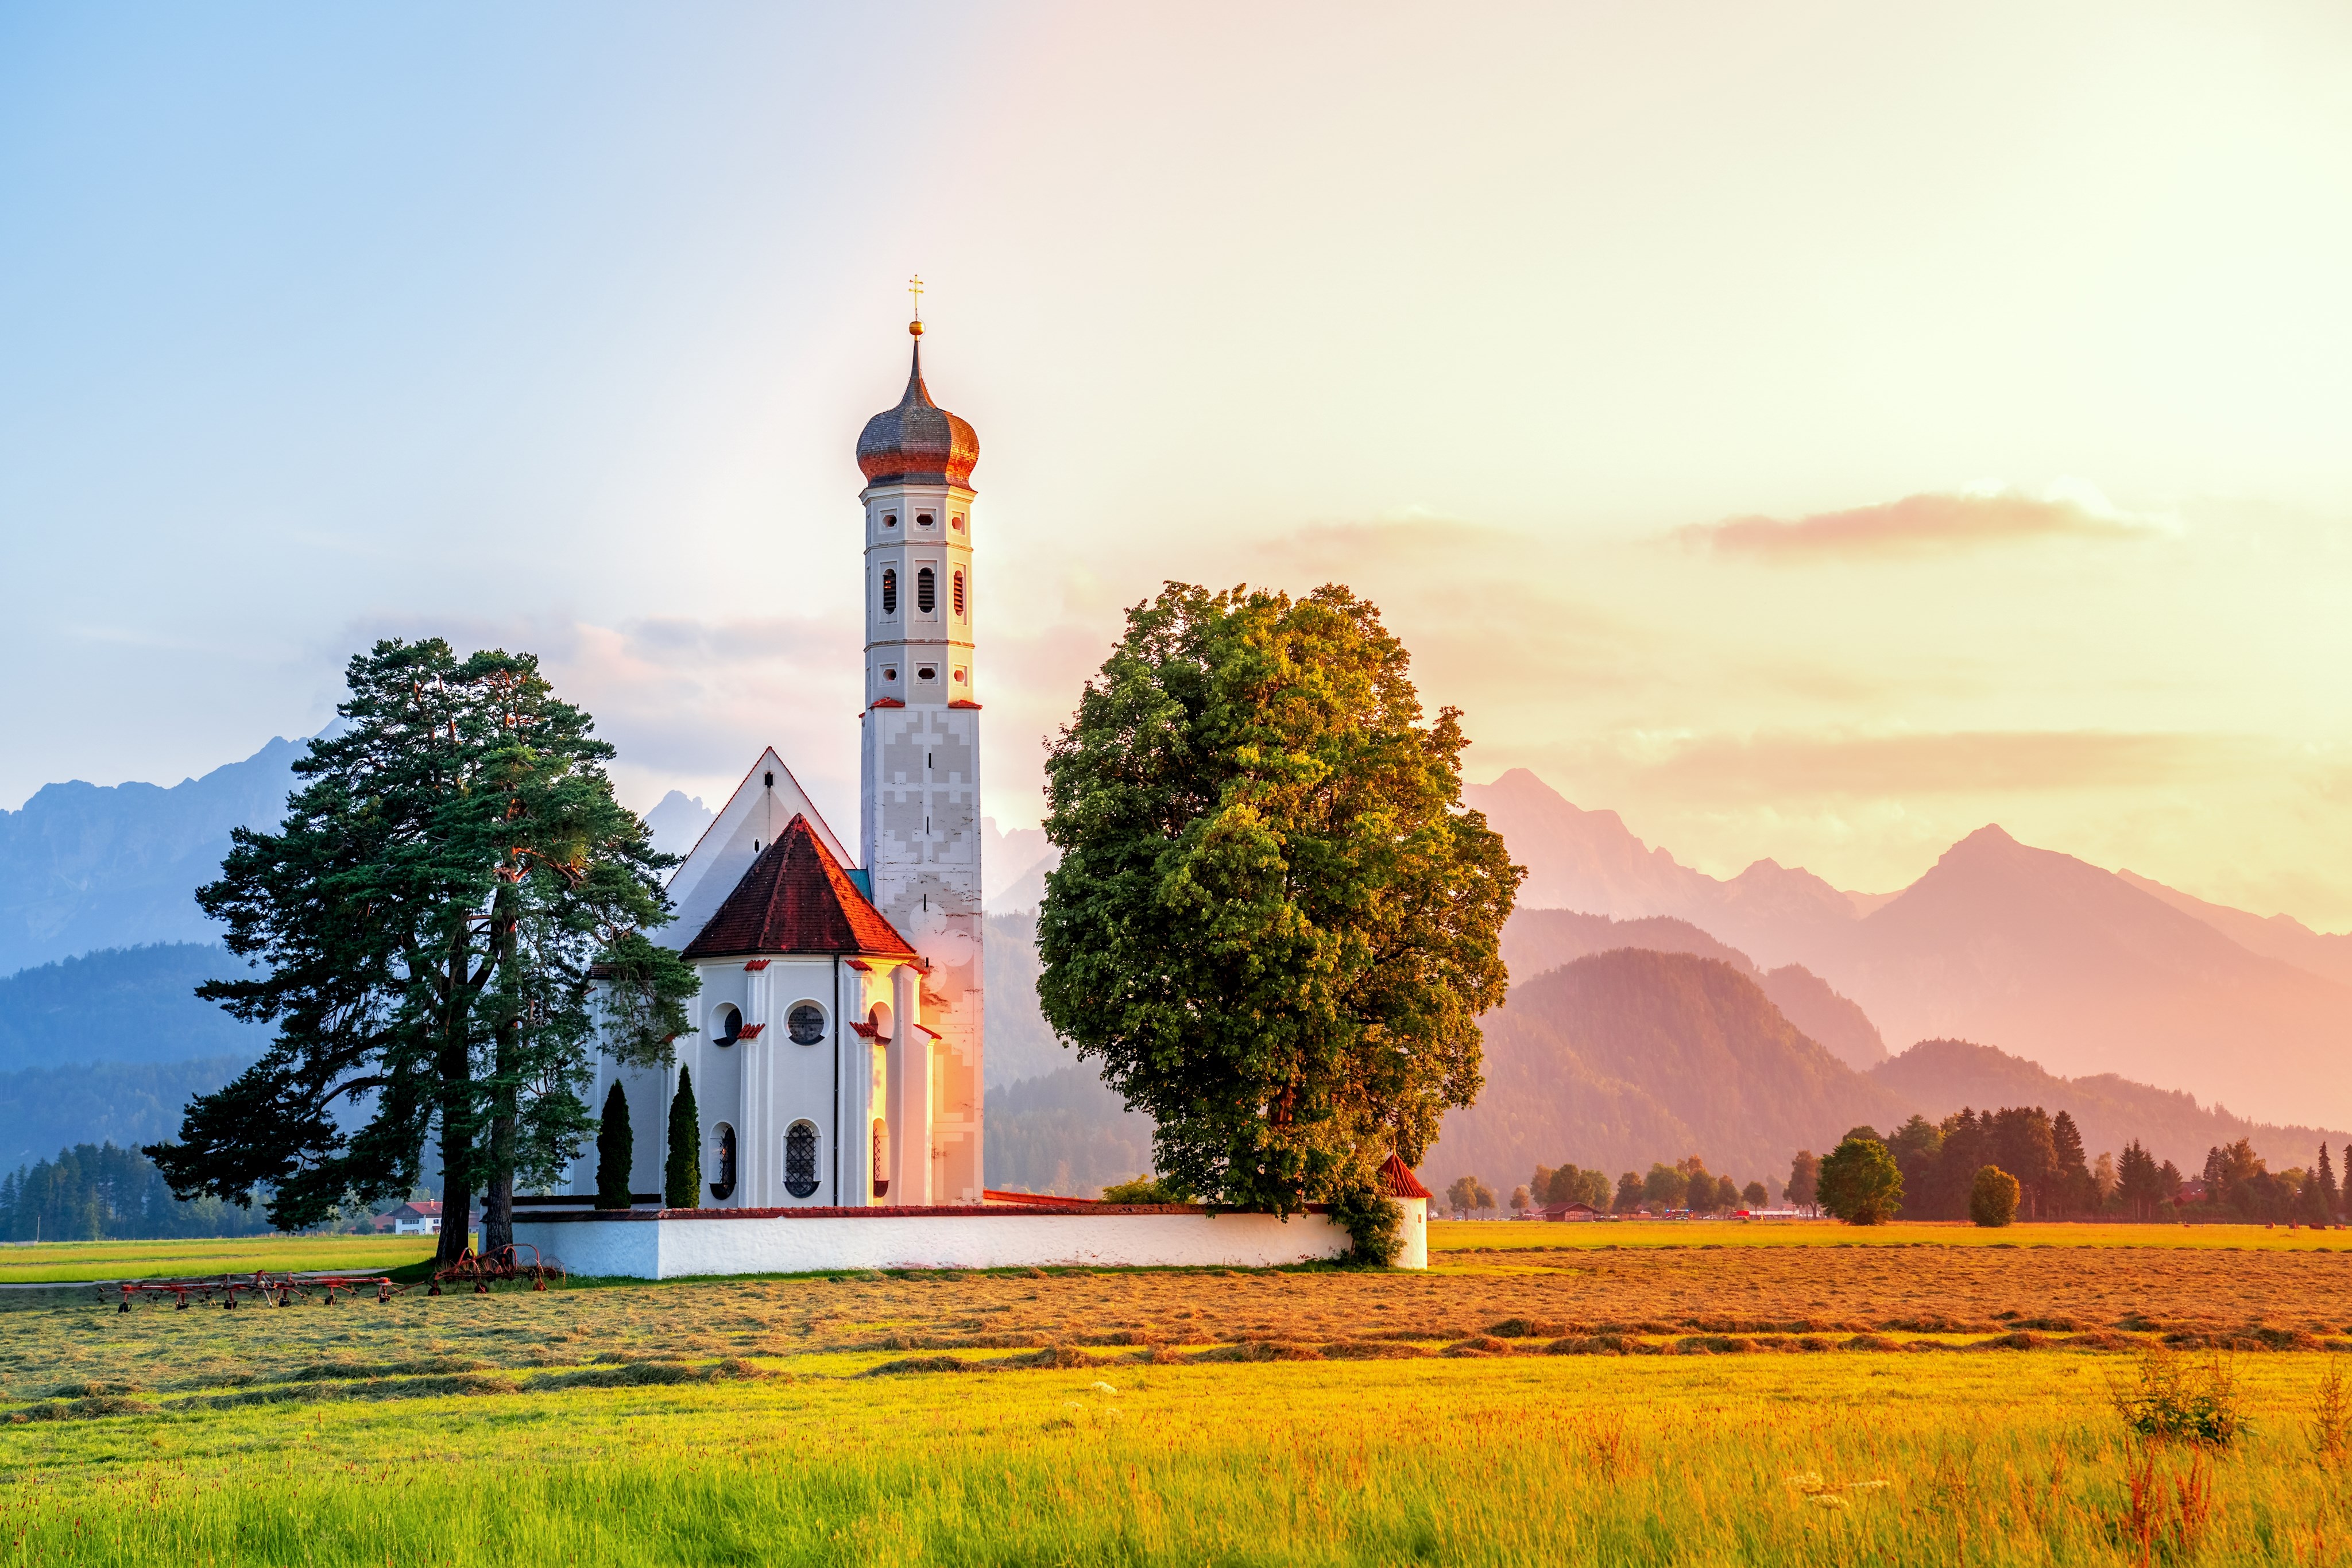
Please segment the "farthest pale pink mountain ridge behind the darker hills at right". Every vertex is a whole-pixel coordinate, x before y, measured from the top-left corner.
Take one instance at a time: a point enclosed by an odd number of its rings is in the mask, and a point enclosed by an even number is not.
[[[1964,1037],[2272,1119],[2352,1121],[2352,938],[2260,919],[1980,827],[1898,893],[1757,860],[1729,882],[1524,769],[1465,799],[1529,877],[1522,907],[1675,917],[1802,964],[1896,1041]]]

